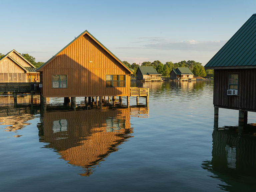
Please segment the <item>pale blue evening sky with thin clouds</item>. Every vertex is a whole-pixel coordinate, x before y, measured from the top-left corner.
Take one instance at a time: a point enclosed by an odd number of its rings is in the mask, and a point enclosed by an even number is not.
[[[205,65],[256,13],[255,0],[0,2],[0,53],[46,62],[88,30],[120,60]]]

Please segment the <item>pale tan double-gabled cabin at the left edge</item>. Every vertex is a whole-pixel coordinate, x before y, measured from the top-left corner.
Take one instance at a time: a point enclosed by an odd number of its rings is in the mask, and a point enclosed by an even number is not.
[[[0,59],[0,83],[40,82],[36,67],[14,49]]]

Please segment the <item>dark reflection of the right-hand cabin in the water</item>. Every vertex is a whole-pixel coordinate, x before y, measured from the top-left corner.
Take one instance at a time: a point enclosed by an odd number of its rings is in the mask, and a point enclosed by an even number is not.
[[[256,137],[255,126],[243,134],[238,127],[224,127],[212,133],[212,160],[203,161],[202,168],[226,183],[225,191],[255,191]],[[245,185],[246,184],[246,185]]]

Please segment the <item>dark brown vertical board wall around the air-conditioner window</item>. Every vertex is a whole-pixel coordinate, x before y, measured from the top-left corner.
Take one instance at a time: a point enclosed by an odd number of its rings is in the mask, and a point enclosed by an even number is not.
[[[227,95],[230,73],[238,73],[238,95]],[[256,112],[255,74],[256,69],[214,70],[214,106]]]

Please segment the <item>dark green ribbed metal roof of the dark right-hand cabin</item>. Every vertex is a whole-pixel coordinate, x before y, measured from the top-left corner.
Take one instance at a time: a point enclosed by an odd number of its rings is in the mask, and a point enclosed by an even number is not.
[[[243,24],[205,68],[256,68],[256,14]]]

